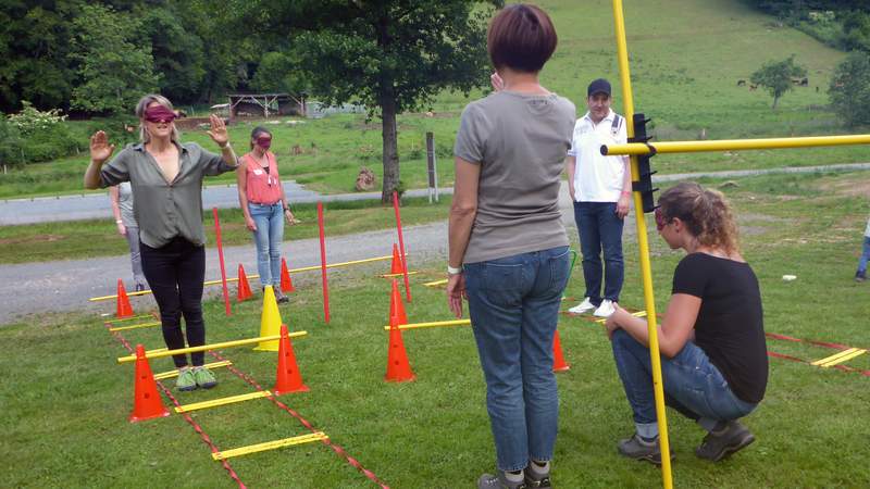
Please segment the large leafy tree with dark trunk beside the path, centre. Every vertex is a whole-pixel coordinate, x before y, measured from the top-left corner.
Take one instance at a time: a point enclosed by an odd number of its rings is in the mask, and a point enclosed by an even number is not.
[[[488,83],[486,21],[500,0],[260,0],[240,17],[296,53],[327,103],[361,102],[382,123],[382,200],[399,187],[396,115],[444,89]]]

